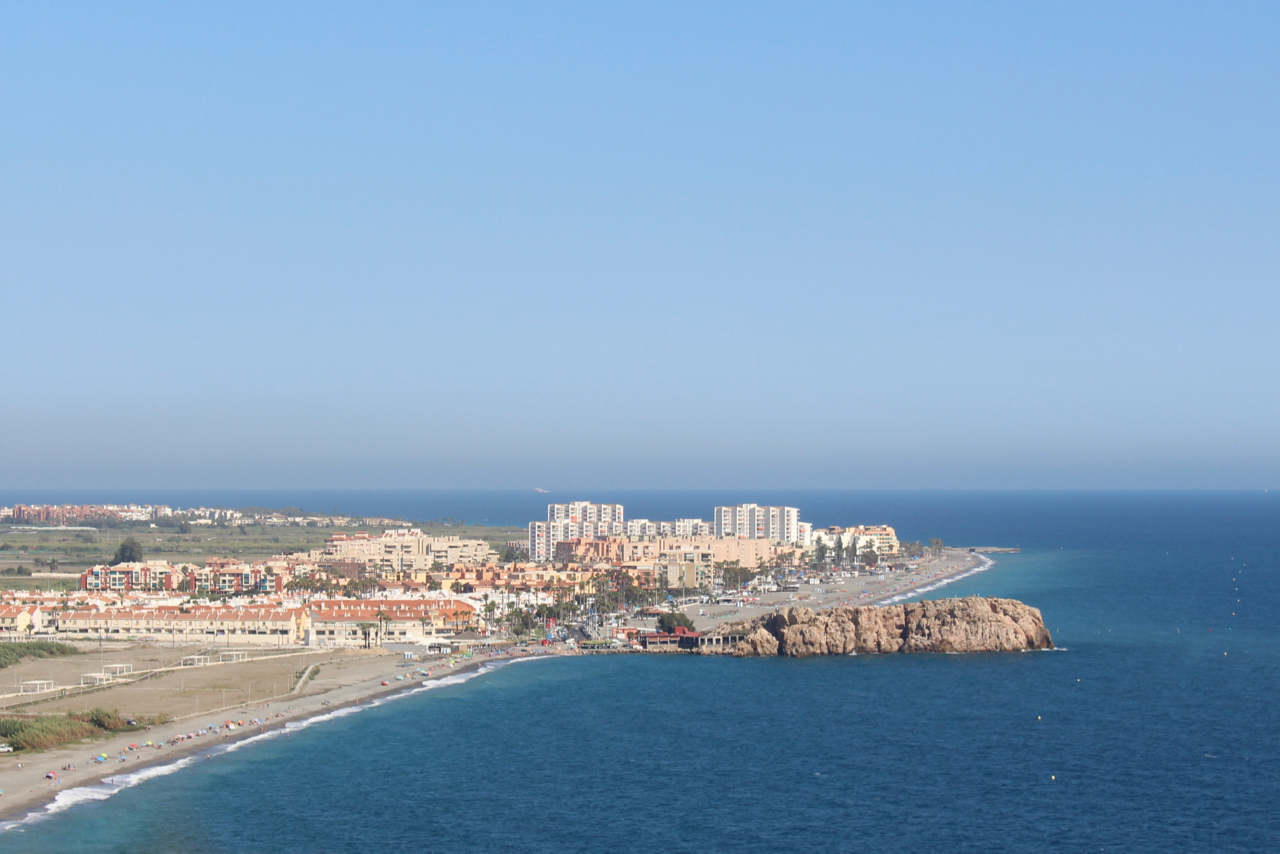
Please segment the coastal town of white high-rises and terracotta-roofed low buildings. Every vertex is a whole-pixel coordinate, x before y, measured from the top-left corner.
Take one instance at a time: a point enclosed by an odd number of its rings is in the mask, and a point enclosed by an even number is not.
[[[27,531],[104,519],[315,528],[352,521],[137,504],[19,504],[0,513],[27,526],[12,530]],[[900,543],[887,525],[814,530],[795,507],[756,504],[716,507],[710,521],[626,519],[621,504],[549,504],[545,520],[529,524],[527,539],[503,543],[502,553],[481,539],[370,528],[250,562],[147,560],[142,543],[127,539],[115,560],[79,572],[76,590],[4,592],[0,636],[439,649],[457,638],[536,636],[643,647],[663,613],[710,625],[730,611],[836,588],[847,600],[874,600],[943,560],[941,542]]]

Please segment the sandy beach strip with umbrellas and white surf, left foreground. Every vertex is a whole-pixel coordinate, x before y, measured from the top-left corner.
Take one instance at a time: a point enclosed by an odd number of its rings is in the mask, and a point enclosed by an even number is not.
[[[23,759],[23,768],[9,767],[0,771],[0,839],[8,831],[24,825],[44,821],[56,816],[76,804],[108,800],[124,789],[131,789],[154,777],[163,777],[201,761],[198,754],[205,753],[205,761],[216,759],[225,753],[234,753],[247,744],[269,737],[279,737],[289,730],[301,730],[312,723],[344,717],[360,711],[361,707],[371,708],[396,697],[407,697],[426,686],[444,684],[453,685],[470,681],[480,673],[486,665],[508,665],[516,661],[536,661],[550,658],[556,653],[525,653],[525,654],[498,654],[486,656],[479,661],[467,661],[452,667],[431,667],[431,676],[406,680],[404,682],[392,681],[383,685],[383,681],[394,680],[396,673],[378,675],[370,680],[362,680],[353,685],[344,685],[328,691],[310,695],[285,695],[255,703],[252,709],[244,707],[237,709],[239,714],[259,717],[266,713],[271,717],[260,726],[246,723],[237,727],[233,735],[205,735],[188,739],[178,744],[165,744],[161,749],[151,752],[136,752],[129,754],[127,746],[140,743],[141,735],[150,735],[151,739],[166,741],[170,737],[184,735],[191,731],[204,729],[195,725],[193,720],[172,721],[154,726],[146,732],[113,734],[101,739],[95,739],[92,744],[77,741],[58,748],[51,748]],[[388,668],[394,667],[398,659],[388,657],[378,662]],[[403,673],[401,673],[403,675]],[[458,677],[463,679],[458,679]],[[337,695],[342,695],[338,699]],[[330,699],[325,699],[330,698]],[[280,708],[284,707],[284,708]],[[225,709],[224,709],[225,711]],[[211,712],[209,717],[216,713]],[[279,717],[275,717],[279,714]],[[219,717],[219,721],[224,718]],[[239,718],[236,718],[239,720]],[[251,718],[246,718],[251,720]],[[292,725],[292,726],[291,726]],[[115,757],[125,754],[125,762],[109,759],[106,763],[88,764],[81,767],[84,752],[92,750],[93,755],[108,754]],[[72,764],[76,771],[61,771],[65,764]],[[123,767],[122,767],[123,766]],[[47,771],[58,769],[59,780],[45,778]],[[114,771],[114,773],[113,773]],[[22,778],[37,778],[35,784],[19,782]]]

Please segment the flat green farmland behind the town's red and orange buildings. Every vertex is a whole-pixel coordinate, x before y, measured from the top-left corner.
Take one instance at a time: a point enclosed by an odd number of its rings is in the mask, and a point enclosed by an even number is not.
[[[484,528],[421,526],[435,536],[461,536],[463,539],[483,539],[492,543],[499,552],[507,540],[525,539],[527,531],[522,528]],[[59,570],[79,572],[95,563],[106,563],[125,538],[133,536],[142,543],[146,560],[163,560],[172,563],[204,563],[209,557],[236,557],[255,560],[273,554],[308,552],[324,547],[326,539],[337,533],[355,533],[362,528],[264,528],[250,525],[241,528],[196,528],[189,534],[179,534],[173,528],[150,528],[140,524],[128,528],[110,528],[93,531],[32,531],[18,533],[0,530],[0,570],[23,566],[36,572],[49,571],[51,561]],[[369,533],[379,533],[372,529]],[[38,561],[37,561],[38,558]],[[0,577],[0,589],[41,586],[31,584],[20,576]]]

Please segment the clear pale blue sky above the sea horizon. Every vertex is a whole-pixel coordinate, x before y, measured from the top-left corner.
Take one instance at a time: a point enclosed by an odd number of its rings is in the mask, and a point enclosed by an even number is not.
[[[1280,4],[0,6],[0,485],[1280,485]]]

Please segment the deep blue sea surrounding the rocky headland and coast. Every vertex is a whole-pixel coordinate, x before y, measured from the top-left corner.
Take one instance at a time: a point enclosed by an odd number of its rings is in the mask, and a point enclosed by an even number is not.
[[[548,498],[515,495],[492,524]],[[586,497],[650,519],[741,498],[662,495]],[[485,515],[471,493],[381,501],[337,508]],[[1280,850],[1280,495],[791,502],[822,525],[1020,545],[934,595],[1023,599],[1061,649],[520,662],[193,761],[0,849]]]

